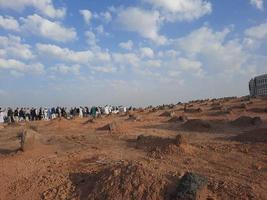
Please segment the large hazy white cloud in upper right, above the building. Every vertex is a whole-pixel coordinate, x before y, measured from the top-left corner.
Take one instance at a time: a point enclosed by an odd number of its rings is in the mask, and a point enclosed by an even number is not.
[[[178,48],[193,59],[201,60],[210,73],[239,71],[248,60],[248,54],[238,40],[226,41],[230,32],[214,32],[202,27],[178,39]]]

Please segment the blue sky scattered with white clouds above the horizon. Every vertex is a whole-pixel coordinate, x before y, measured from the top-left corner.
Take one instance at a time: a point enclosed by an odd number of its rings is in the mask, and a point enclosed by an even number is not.
[[[1,106],[150,105],[248,94],[265,0],[0,0]]]

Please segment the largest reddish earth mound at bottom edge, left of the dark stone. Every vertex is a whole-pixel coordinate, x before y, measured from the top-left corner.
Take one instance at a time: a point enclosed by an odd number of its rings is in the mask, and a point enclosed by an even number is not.
[[[166,181],[137,162],[122,162],[96,175],[88,199],[163,200]]]

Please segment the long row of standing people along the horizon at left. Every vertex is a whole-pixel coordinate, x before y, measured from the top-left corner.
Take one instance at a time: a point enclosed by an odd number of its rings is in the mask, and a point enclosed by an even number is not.
[[[75,117],[97,117],[101,114],[126,112],[126,107],[104,106],[104,107],[52,107],[52,108],[0,108],[0,123],[14,123],[21,121],[53,120],[64,117],[72,119]]]

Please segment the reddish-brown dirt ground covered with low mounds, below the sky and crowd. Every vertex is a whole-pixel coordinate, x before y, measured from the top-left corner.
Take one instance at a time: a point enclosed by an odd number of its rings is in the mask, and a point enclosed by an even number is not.
[[[186,172],[208,178],[207,199],[267,199],[266,108],[233,98],[6,125],[0,199],[172,199]],[[25,128],[36,142],[22,152]]]

